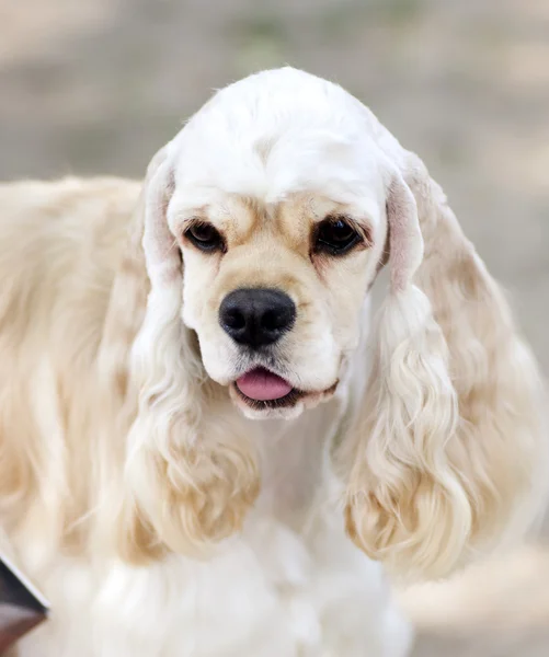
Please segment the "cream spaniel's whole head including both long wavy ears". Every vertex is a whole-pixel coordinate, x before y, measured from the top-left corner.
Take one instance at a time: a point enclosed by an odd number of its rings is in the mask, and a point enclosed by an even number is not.
[[[259,477],[222,408],[290,418],[329,399],[388,261],[339,454],[350,534],[441,573],[500,532],[539,454],[535,368],[442,192],[369,111],[300,71],[252,76],[156,155],[142,207],[133,517],[175,550],[240,527]]]

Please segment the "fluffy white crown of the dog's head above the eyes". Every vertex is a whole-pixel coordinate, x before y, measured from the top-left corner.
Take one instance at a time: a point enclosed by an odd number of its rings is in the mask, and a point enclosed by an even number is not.
[[[322,192],[380,198],[382,158],[364,107],[340,87],[282,69],[218,92],[172,142],[176,187],[264,204]]]

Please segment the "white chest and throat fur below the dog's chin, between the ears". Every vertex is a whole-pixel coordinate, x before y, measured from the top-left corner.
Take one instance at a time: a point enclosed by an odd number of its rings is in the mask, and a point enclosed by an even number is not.
[[[408,626],[381,568],[344,535],[329,475],[343,411],[335,400],[293,423],[251,423],[263,493],[213,560],[60,562],[43,574],[54,613],[21,657],[403,656]]]

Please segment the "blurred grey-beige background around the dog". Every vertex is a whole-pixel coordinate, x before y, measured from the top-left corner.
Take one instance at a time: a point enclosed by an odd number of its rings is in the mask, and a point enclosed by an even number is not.
[[[0,0],[0,178],[141,176],[214,89],[283,64],[421,154],[547,373],[549,0]],[[402,603],[414,657],[549,655],[540,544]]]

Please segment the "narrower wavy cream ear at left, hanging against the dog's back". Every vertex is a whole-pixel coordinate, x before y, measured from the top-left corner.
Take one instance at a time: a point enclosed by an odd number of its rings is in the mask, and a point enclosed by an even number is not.
[[[167,222],[172,148],[153,158],[141,195],[136,257],[145,257],[150,291],[130,353],[138,408],[118,528],[131,558],[159,548],[201,553],[241,527],[259,488],[252,447],[235,414],[224,412],[224,395],[207,381],[197,341],[181,319],[183,263]]]

